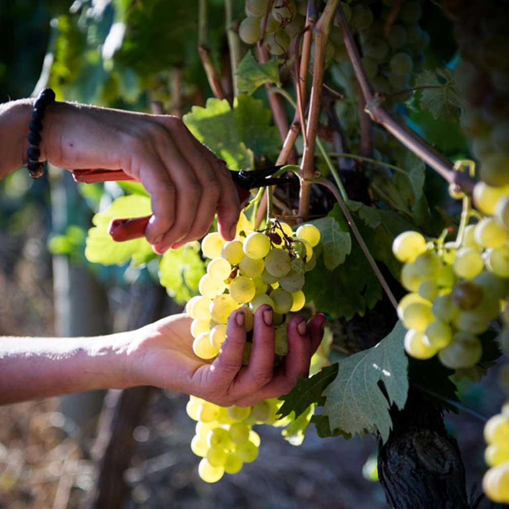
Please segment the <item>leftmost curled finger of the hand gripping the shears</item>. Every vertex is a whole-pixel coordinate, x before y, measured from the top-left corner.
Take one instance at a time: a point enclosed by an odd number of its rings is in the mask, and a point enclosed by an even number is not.
[[[134,173],[151,196],[153,214],[145,236],[151,244],[157,245],[174,221],[175,186],[157,156],[144,155],[138,164],[138,171]]]

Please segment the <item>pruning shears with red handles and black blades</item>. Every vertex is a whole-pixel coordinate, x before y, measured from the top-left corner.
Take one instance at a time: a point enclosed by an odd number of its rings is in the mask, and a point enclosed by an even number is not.
[[[245,204],[250,196],[250,190],[259,187],[288,184],[290,177],[271,177],[282,166],[269,166],[263,169],[230,172],[239,195],[241,205]],[[110,182],[116,180],[134,181],[123,170],[108,169],[75,169],[72,172],[76,182],[91,184],[94,182]],[[108,233],[116,242],[137,239],[145,236],[145,229],[152,216],[132,217],[130,219],[114,219],[109,223]]]

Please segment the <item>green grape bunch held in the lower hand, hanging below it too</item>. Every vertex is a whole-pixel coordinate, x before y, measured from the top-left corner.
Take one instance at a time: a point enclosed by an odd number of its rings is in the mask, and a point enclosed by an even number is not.
[[[313,247],[319,242],[320,231],[313,224],[302,224],[294,233],[289,224],[272,220],[264,231],[257,232],[251,230],[244,214],[234,240],[225,242],[219,233],[208,234],[202,241],[202,252],[210,262],[200,280],[201,295],[186,305],[193,319],[194,353],[203,359],[216,357],[226,339],[229,316],[242,308],[247,332],[243,363],[247,364],[253,313],[268,304],[274,311],[275,362],[280,361],[288,353],[288,314],[305,304],[304,273],[316,265]],[[224,472],[236,473],[243,463],[254,461],[260,438],[251,427],[275,425],[280,404],[266,400],[247,408],[222,408],[191,396],[187,413],[198,421],[191,449],[202,457],[200,477],[214,483]],[[277,421],[278,426],[284,423]]]

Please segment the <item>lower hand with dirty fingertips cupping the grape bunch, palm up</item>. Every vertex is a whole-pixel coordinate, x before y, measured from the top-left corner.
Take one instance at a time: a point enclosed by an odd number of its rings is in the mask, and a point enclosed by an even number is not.
[[[136,332],[138,338],[129,347],[132,384],[182,391],[223,407],[251,406],[285,394],[298,377],[308,374],[310,359],[322,340],[325,316],[318,314],[307,324],[302,317],[290,320],[289,352],[275,370],[272,317],[269,306],[260,306],[254,314],[253,347],[247,366],[242,366],[246,342],[242,310],[230,316],[227,340],[213,361],[194,354],[187,315],[148,325],[143,334]]]

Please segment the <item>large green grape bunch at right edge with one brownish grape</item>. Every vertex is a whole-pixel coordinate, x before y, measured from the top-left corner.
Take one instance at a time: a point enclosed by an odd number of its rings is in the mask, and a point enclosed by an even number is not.
[[[455,370],[480,360],[477,335],[498,317],[509,294],[509,188],[480,182],[474,203],[494,215],[467,225],[459,245],[427,243],[418,232],[402,233],[392,245],[405,262],[401,282],[411,292],[398,307],[408,329],[407,353],[418,359],[438,353]]]

